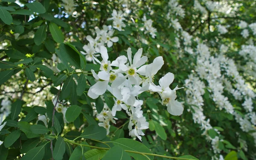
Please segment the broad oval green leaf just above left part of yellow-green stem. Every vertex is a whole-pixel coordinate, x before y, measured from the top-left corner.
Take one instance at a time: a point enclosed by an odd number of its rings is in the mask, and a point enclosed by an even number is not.
[[[80,135],[80,137],[84,139],[103,140],[106,135],[107,131],[105,128],[99,127],[99,125],[89,125],[84,129],[84,132]]]

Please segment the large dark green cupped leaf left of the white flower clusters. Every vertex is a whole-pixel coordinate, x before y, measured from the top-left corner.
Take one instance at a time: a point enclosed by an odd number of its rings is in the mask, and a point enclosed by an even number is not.
[[[80,56],[66,44],[60,44],[60,52],[56,52],[62,63],[68,68],[70,63],[80,69]]]

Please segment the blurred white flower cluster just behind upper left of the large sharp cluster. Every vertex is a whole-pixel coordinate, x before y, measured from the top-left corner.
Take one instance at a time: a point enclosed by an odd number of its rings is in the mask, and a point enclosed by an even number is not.
[[[103,29],[96,28],[96,38],[92,38],[92,36],[87,35],[86,39],[89,41],[87,45],[84,45],[83,49],[85,52],[81,51],[83,55],[85,55],[85,58],[87,61],[93,61],[94,64],[96,64],[93,57],[99,56],[99,50],[100,46],[107,44],[108,47],[113,46],[113,42],[119,41],[118,37],[114,37],[114,30],[111,29],[111,26],[103,26]]]

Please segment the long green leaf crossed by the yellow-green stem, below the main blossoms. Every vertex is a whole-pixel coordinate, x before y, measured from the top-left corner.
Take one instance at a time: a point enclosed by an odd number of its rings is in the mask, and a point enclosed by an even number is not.
[[[151,151],[144,144],[132,139],[120,138],[120,139],[114,140],[113,144],[118,145],[124,150],[151,153]],[[136,153],[130,153],[130,152],[127,152],[127,154],[129,154],[131,157],[134,157],[135,160],[149,160],[149,159],[153,160],[154,159],[154,156],[149,156],[149,155],[145,157],[142,154],[136,154]]]

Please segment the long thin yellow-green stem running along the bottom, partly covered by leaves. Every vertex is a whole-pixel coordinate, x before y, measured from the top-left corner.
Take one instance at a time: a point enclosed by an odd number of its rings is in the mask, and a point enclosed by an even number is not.
[[[75,145],[82,145],[82,146],[86,146],[86,147],[90,147],[90,148],[104,149],[104,150],[110,150],[111,149],[111,148],[97,147],[97,146],[93,146],[93,145],[84,145],[84,144],[80,144],[80,143],[76,143],[76,142],[73,142],[71,140],[68,140],[67,138],[64,138],[64,141],[68,142],[68,143],[75,144]],[[153,153],[138,152],[138,151],[130,151],[130,150],[124,150],[124,151],[129,152],[129,153],[141,154],[141,155],[143,155],[145,157],[147,157],[146,155],[150,155],[150,156],[170,158],[170,159],[175,159],[175,160],[192,160],[192,159],[188,159],[188,158],[170,157],[170,156],[164,156],[164,155],[153,154]]]

